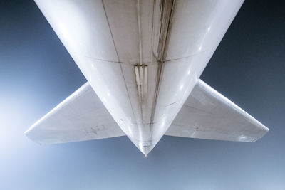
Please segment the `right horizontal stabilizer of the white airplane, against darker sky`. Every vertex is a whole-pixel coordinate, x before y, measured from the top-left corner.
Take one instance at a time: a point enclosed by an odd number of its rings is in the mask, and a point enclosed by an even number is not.
[[[165,133],[170,136],[254,142],[268,128],[240,107],[198,80]]]

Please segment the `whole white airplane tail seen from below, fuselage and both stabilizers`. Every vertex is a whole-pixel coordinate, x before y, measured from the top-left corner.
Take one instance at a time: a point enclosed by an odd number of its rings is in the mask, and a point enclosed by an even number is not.
[[[199,79],[244,0],[36,0],[87,83],[26,130],[38,144],[163,135],[255,142],[267,127]]]

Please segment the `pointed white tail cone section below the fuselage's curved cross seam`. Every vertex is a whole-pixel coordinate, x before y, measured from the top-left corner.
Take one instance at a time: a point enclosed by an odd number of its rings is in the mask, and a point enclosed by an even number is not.
[[[93,65],[81,70],[123,132],[147,154],[170,127],[204,69],[200,65],[213,52],[144,66],[78,54],[73,59]]]

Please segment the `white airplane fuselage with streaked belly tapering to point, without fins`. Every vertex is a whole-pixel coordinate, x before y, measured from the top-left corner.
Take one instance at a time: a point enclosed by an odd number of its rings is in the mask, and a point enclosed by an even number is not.
[[[36,0],[110,115],[147,154],[243,0]]]

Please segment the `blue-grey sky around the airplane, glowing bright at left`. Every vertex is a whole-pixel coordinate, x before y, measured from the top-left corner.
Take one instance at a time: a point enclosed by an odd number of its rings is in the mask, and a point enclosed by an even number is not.
[[[24,131],[86,82],[33,1],[0,1],[0,189],[285,189],[285,3],[247,0],[202,74],[270,131],[254,143],[127,137],[39,146]]]

